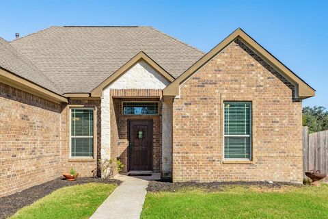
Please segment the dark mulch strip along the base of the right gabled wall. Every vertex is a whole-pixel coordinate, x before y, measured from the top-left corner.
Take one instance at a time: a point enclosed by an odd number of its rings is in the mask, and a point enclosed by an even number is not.
[[[289,185],[294,187],[304,186],[299,183],[284,183],[284,182],[273,182],[269,183],[266,181],[263,182],[245,182],[245,181],[236,181],[236,182],[212,182],[212,183],[196,183],[196,182],[184,182],[184,183],[169,183],[161,181],[150,181],[148,184],[148,192],[176,192],[183,188],[196,188],[201,190],[206,190],[208,192],[219,192],[225,190],[228,186],[251,186],[256,185],[259,188],[268,188],[268,189],[279,189],[282,186]]]

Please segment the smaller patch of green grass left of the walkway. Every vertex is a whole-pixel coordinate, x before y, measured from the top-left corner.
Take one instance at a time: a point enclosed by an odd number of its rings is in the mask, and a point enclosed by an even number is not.
[[[12,218],[89,218],[116,187],[87,183],[61,188],[23,207]]]

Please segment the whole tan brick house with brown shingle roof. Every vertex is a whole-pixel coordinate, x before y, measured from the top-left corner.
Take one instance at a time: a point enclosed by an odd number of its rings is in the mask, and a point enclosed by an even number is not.
[[[203,53],[152,27],[0,38],[0,196],[99,159],[173,181],[303,176],[315,90],[241,29]]]

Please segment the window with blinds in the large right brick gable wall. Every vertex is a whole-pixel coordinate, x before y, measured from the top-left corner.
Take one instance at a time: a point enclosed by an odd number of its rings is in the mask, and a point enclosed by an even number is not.
[[[251,159],[251,102],[224,102],[224,159]]]

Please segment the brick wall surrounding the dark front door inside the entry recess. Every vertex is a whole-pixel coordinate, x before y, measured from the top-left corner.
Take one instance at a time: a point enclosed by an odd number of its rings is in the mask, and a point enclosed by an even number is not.
[[[162,127],[161,127],[161,104],[159,105],[160,115],[154,116],[126,116],[122,114],[122,101],[159,101],[154,98],[115,98],[111,103],[111,157],[118,157],[124,164],[122,172],[128,171],[128,119],[153,120],[153,170],[161,170],[161,150],[162,150]]]

